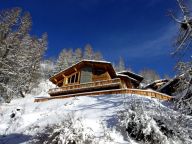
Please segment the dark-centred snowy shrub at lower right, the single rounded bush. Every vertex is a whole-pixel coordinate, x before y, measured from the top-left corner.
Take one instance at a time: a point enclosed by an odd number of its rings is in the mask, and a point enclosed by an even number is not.
[[[144,112],[130,109],[122,114],[125,119],[121,121],[121,126],[126,128],[125,131],[130,138],[143,143],[166,143],[167,138],[155,120]]]

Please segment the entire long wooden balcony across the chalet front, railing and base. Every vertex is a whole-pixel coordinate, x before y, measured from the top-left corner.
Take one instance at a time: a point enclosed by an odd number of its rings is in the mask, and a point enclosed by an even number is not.
[[[71,84],[68,86],[50,89],[48,93],[50,96],[59,96],[59,95],[93,92],[100,90],[119,89],[120,87],[121,87],[121,80],[120,78],[116,78],[111,80],[103,80],[83,84],[73,84],[73,85]]]

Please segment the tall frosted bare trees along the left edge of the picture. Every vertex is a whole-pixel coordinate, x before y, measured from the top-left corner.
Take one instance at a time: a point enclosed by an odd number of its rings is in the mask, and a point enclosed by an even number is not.
[[[37,80],[47,35],[31,36],[31,23],[30,14],[20,8],[0,12],[0,94],[7,102],[24,96]]]

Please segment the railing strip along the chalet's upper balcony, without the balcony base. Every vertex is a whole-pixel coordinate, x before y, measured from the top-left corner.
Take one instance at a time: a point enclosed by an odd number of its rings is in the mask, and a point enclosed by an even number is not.
[[[121,83],[120,78],[88,82],[88,83],[82,83],[82,84],[73,84],[73,85],[63,86],[63,87],[59,87],[59,88],[53,88],[53,89],[50,89],[48,91],[48,93],[51,94],[51,93],[59,92],[59,91],[67,91],[67,90],[82,89],[82,88],[92,88],[92,87],[104,86],[107,84],[116,84],[116,83]]]

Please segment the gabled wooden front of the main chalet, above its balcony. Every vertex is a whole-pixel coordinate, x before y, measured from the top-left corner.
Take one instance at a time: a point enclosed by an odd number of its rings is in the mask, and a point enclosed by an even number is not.
[[[50,78],[58,87],[110,80],[116,74],[108,62],[83,60]]]

